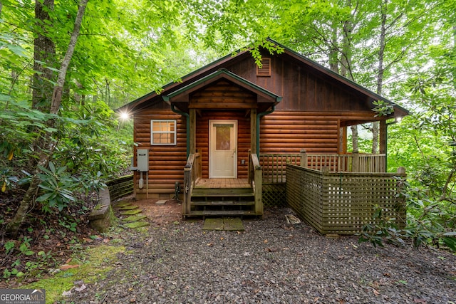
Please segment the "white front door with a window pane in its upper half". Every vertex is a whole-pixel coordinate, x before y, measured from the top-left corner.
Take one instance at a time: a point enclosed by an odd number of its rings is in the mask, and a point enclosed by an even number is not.
[[[209,120],[209,178],[237,178],[237,120]]]

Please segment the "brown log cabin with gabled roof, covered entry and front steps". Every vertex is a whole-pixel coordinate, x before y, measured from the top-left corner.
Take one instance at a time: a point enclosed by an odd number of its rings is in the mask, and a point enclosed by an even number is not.
[[[205,65],[119,108],[134,120],[134,193],[182,215],[263,214],[286,200],[286,164],[385,172],[387,120],[408,111],[290,48]],[[374,102],[391,112],[378,116]],[[347,127],[380,122],[380,153],[347,153]],[[363,160],[364,159],[364,160]],[[361,170],[361,171],[360,171]]]

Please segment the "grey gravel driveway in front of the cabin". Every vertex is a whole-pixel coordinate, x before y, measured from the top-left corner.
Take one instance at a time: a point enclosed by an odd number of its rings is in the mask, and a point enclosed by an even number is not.
[[[291,213],[267,209],[245,231],[125,231],[116,268],[68,303],[456,303],[454,254],[329,239],[287,225]]]

